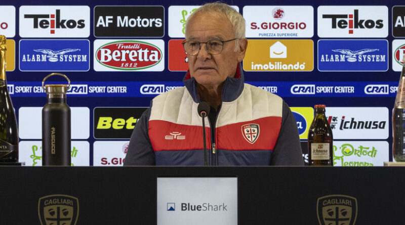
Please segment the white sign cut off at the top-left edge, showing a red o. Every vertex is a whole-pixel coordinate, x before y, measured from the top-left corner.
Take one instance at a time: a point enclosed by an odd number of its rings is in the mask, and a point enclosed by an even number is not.
[[[16,33],[16,8],[14,6],[0,6],[0,12],[2,12],[0,13],[0,34],[14,37]]]

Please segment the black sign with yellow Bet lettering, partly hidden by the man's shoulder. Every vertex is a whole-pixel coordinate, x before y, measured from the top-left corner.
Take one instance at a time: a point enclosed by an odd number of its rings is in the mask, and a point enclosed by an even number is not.
[[[94,108],[94,138],[130,139],[135,124],[147,108]]]

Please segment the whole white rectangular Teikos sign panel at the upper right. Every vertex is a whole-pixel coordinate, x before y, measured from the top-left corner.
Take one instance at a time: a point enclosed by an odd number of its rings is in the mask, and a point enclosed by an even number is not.
[[[386,6],[319,6],[319,37],[386,37]]]

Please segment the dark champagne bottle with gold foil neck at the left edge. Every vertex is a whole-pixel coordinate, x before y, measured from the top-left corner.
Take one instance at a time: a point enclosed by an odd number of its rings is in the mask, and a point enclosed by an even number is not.
[[[18,162],[18,126],[6,80],[6,37],[0,35],[0,163]]]

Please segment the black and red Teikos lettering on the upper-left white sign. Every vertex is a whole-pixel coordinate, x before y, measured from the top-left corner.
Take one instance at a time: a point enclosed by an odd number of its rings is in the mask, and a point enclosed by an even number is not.
[[[60,9],[55,14],[24,14],[25,19],[32,19],[34,29],[50,29],[54,34],[55,29],[85,28],[85,20],[61,18]]]

